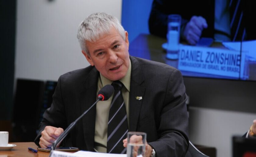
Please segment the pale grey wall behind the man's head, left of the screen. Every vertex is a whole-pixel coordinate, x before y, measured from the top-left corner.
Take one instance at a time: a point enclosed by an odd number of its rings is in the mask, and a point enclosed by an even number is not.
[[[15,79],[57,80],[89,65],[76,38],[93,12],[121,21],[121,0],[17,0]]]

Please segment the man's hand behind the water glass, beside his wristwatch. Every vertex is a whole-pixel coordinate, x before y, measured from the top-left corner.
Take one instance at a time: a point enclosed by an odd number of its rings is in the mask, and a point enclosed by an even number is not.
[[[127,147],[127,142],[128,142],[127,138],[123,140],[123,146],[124,147]],[[134,144],[142,144],[142,136],[132,135],[131,138],[130,138],[130,142],[134,143]],[[152,148],[146,141],[145,157],[150,157],[151,153],[152,153]],[[133,154],[133,155],[134,155],[134,157],[137,156],[136,150],[135,150],[135,154]]]

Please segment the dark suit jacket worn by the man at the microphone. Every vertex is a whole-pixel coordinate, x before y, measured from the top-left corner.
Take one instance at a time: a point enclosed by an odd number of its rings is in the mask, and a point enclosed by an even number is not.
[[[158,157],[184,156],[188,147],[187,95],[179,70],[163,63],[130,56],[129,131],[147,133]],[[65,129],[96,101],[99,72],[87,67],[62,75],[51,108],[44,113],[40,132],[51,125]],[[142,100],[136,100],[141,96]],[[69,133],[63,145],[94,151],[94,106]]]

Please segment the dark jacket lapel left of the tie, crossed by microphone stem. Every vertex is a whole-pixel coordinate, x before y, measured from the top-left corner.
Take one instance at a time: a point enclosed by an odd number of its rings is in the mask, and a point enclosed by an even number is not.
[[[96,101],[98,77],[99,72],[93,67],[85,79],[83,89],[80,93],[81,114]],[[88,151],[94,151],[95,114],[96,105],[82,118],[84,140]]]

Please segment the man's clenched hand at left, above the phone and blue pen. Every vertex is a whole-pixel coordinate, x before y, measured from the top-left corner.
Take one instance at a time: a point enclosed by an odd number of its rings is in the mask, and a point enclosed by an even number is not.
[[[62,128],[55,128],[53,126],[46,126],[41,132],[39,145],[41,148],[51,147],[52,143],[62,134]],[[59,145],[57,145],[59,147]]]

